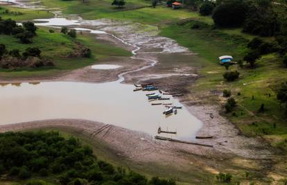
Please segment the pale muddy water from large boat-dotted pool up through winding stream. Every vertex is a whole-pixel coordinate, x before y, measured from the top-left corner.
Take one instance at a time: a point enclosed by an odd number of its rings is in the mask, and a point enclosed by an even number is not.
[[[172,39],[157,36],[157,28],[149,33],[142,32],[144,26],[141,24],[123,24],[107,19],[87,21],[63,17],[35,21],[38,26],[73,26],[78,31],[88,31],[97,37],[101,37],[101,34],[110,34],[134,48],[133,59],[150,62],[150,65],[137,71],[153,67],[157,63],[155,60],[137,58],[137,52],[141,49],[153,47],[161,49],[159,53],[187,51]],[[94,26],[94,29],[87,26]],[[121,36],[115,36],[112,33],[119,33]],[[112,69],[100,67],[100,70]],[[134,92],[133,85],[121,83],[125,73],[121,74],[119,80],[115,82],[100,84],[84,82],[3,84],[0,86],[0,124],[54,118],[80,118],[118,125],[153,136],[158,135],[157,129],[162,127],[162,130],[177,132],[175,135],[160,134],[162,136],[184,140],[195,139],[196,132],[202,126],[197,118],[185,107],[178,109],[176,115],[165,116],[162,112],[166,107],[151,105],[152,102],[148,101],[146,94],[150,92]],[[175,98],[166,95],[164,97],[171,100],[161,101],[161,103],[183,106]]]

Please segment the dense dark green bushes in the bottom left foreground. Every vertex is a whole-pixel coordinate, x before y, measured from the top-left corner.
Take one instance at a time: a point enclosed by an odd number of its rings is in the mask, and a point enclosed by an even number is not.
[[[89,146],[58,132],[0,134],[1,179],[53,177],[60,184],[173,185],[175,181],[145,176],[98,160]],[[38,182],[37,184],[40,184]]]

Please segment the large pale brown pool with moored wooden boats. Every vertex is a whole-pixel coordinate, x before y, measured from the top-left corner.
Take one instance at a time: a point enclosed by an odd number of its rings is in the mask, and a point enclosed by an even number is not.
[[[41,82],[0,86],[0,124],[53,118],[80,118],[118,125],[130,130],[191,140],[202,123],[186,109],[166,117],[163,105],[151,105],[146,91],[132,91],[133,85],[119,82],[89,84],[82,82]],[[170,97],[170,96],[165,96]],[[182,106],[175,99],[161,101]]]

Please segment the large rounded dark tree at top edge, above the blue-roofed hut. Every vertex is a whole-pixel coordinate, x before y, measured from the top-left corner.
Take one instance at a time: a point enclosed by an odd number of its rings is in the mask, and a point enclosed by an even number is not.
[[[212,19],[217,26],[241,26],[245,21],[247,10],[248,7],[243,1],[227,1],[216,7]]]

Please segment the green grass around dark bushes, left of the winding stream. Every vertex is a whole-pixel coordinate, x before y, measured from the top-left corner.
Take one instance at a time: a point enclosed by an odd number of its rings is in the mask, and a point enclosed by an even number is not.
[[[99,42],[93,35],[78,35],[77,39],[72,39],[68,35],[58,33],[49,33],[46,28],[37,30],[37,36],[33,37],[33,43],[21,44],[19,39],[10,35],[0,35],[0,43],[5,44],[8,51],[19,49],[21,52],[28,47],[38,47],[42,51],[44,58],[50,58],[55,67],[42,67],[37,69],[20,68],[20,69],[0,69],[1,78],[28,78],[51,76],[62,71],[78,69],[96,61],[111,56],[129,56],[131,53],[109,43]],[[69,53],[76,49],[76,41],[89,47],[92,50],[91,58],[67,58]]]

